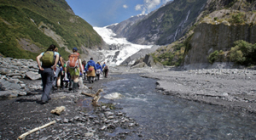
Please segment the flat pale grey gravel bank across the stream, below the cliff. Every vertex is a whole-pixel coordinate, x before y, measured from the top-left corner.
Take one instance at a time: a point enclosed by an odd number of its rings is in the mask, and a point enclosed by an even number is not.
[[[256,113],[256,70],[159,70],[143,75],[158,79],[165,95]]]

